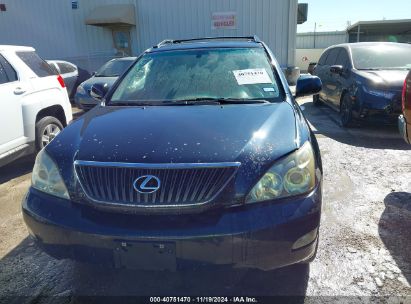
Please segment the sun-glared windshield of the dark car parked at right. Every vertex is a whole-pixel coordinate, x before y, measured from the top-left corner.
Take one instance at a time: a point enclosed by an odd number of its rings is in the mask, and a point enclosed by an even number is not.
[[[358,70],[411,69],[411,45],[352,46],[351,51]]]

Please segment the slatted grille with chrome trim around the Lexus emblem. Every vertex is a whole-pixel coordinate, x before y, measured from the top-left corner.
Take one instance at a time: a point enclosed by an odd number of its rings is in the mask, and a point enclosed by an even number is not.
[[[187,206],[206,203],[228,184],[240,163],[131,164],[76,161],[86,195],[93,201],[141,207]],[[134,181],[146,175],[161,180],[149,194],[137,192]]]

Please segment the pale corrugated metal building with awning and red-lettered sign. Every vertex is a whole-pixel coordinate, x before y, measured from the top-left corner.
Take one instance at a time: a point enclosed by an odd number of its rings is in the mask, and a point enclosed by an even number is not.
[[[293,66],[297,0],[0,0],[0,44],[90,71],[166,38],[258,35]]]

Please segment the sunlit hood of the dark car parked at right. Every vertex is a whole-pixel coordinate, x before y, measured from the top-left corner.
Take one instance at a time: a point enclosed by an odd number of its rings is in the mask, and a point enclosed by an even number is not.
[[[374,86],[401,90],[408,72],[408,70],[380,70],[358,71],[358,74],[367,78]]]

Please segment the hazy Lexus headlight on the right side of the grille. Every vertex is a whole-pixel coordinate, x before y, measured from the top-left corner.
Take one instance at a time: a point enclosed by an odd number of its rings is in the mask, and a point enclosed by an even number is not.
[[[247,203],[304,194],[315,187],[315,159],[310,142],[279,161],[254,186]]]

